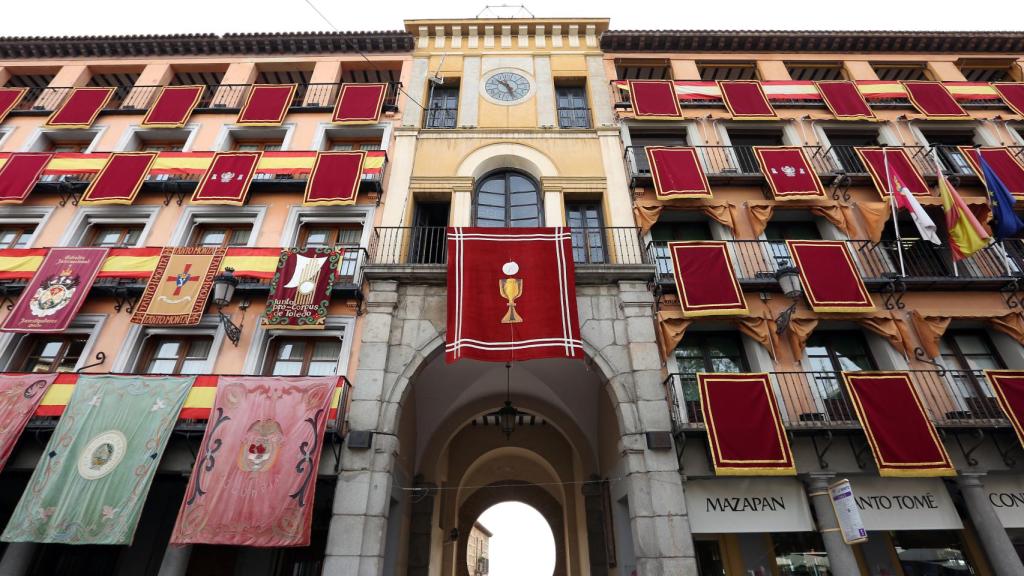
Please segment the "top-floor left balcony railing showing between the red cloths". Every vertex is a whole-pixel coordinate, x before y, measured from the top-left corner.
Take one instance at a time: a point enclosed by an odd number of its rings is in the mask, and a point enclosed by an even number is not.
[[[209,84],[204,87],[196,112],[239,112],[252,84]],[[117,86],[103,109],[105,114],[142,114],[156,100],[163,86]],[[47,115],[53,112],[72,87],[29,88],[11,114]],[[338,100],[340,83],[299,84],[289,112],[331,112]],[[398,111],[400,82],[389,82],[384,92],[384,112]]]

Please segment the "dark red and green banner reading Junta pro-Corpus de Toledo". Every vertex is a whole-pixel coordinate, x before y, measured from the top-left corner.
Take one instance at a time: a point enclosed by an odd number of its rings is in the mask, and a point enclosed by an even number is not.
[[[263,326],[323,329],[342,251],[334,248],[284,250],[270,281]]]

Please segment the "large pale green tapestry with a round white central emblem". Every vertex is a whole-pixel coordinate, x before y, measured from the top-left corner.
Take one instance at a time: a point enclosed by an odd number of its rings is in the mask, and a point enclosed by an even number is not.
[[[0,539],[131,544],[195,379],[80,376]]]

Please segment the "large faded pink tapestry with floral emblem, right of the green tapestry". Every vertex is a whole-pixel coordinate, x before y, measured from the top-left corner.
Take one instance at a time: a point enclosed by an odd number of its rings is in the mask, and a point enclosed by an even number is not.
[[[307,546],[337,376],[221,376],[171,542]]]

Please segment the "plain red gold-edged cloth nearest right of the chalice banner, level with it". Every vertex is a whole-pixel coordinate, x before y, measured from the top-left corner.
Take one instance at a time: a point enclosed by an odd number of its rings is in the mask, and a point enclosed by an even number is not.
[[[749,314],[725,242],[670,242],[669,254],[683,316]]]

